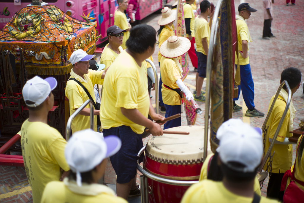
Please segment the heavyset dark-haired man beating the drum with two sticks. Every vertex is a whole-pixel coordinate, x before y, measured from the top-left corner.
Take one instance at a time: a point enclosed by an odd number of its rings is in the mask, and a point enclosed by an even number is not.
[[[154,136],[161,126],[149,119],[164,120],[155,113],[148,94],[147,64],[155,50],[156,31],[140,24],[130,30],[128,48],[118,55],[106,74],[101,98],[100,118],[104,137],[116,135],[122,141],[117,154],[110,157],[116,172],[117,196],[128,199],[140,195],[136,184],[137,153],[143,147],[141,134],[147,127]],[[140,160],[142,161],[142,160]]]

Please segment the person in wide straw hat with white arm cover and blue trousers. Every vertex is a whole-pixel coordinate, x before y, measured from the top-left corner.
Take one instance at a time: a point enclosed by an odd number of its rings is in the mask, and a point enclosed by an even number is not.
[[[192,93],[181,81],[181,64],[177,57],[183,55],[190,49],[191,43],[185,37],[170,36],[168,40],[161,45],[161,77],[163,84],[161,94],[163,95],[164,105],[166,107],[165,117],[181,113],[181,94],[185,93],[186,99],[193,99]],[[181,126],[181,118],[167,121],[164,129]]]

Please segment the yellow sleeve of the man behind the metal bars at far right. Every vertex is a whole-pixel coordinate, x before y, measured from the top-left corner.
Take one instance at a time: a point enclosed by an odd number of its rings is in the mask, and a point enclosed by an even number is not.
[[[284,103],[285,104],[285,103]],[[274,115],[274,120],[272,121],[272,125],[269,126],[269,138],[273,139],[274,135],[275,135],[275,131],[279,125],[279,122],[282,118],[283,112],[285,110],[285,105],[278,105],[277,108],[273,108],[273,115]],[[288,129],[288,125],[289,125],[289,111],[287,112],[285,119],[283,121],[283,124],[281,126],[281,129],[279,131],[278,137],[276,140],[278,140],[279,142],[283,142],[285,140],[286,137],[286,132]]]

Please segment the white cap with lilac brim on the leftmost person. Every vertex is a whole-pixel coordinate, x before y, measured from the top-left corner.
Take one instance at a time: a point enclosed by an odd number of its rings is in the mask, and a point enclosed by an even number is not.
[[[50,95],[51,91],[57,86],[57,80],[54,77],[47,77],[42,79],[39,76],[35,76],[32,79],[26,81],[26,84],[22,89],[22,96],[25,101],[32,101],[34,104],[28,104],[27,106],[36,107]]]

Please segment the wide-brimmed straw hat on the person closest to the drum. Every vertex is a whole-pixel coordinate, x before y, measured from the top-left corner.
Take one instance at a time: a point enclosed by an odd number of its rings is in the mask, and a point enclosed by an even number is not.
[[[186,53],[190,49],[190,46],[190,40],[187,38],[173,35],[162,43],[159,51],[164,57],[175,58]]]

